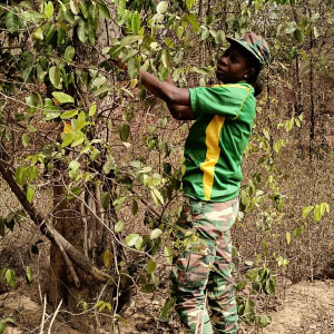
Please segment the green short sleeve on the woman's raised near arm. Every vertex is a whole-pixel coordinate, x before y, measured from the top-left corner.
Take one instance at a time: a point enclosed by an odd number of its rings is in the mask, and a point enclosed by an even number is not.
[[[214,114],[237,119],[247,98],[254,97],[250,85],[229,84],[212,88],[190,88],[190,108],[195,118],[202,114]]]

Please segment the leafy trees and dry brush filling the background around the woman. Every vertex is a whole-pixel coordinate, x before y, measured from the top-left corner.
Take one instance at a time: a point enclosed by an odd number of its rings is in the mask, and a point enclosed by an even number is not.
[[[156,317],[178,332],[167,277],[187,246],[174,223],[190,124],[170,118],[138,69],[213,85],[226,36],[247,30],[273,62],[234,228],[244,326],[266,326],[262,307],[283,277],[333,275],[333,13],[318,0],[2,1],[1,293],[38,282],[40,303],[85,333],[116,331],[131,301],[154,293]],[[119,55],[128,73],[112,66]],[[2,315],[0,333],[14,321]]]

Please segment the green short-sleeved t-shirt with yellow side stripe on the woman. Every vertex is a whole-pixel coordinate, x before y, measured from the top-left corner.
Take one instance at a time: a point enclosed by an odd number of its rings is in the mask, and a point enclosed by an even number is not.
[[[252,134],[254,88],[229,84],[189,89],[194,118],[185,145],[184,194],[225,202],[239,193],[243,153]]]

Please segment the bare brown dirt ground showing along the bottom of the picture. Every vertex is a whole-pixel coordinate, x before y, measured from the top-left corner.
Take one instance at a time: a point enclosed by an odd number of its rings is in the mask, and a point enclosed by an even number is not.
[[[149,296],[149,295],[148,295]],[[302,282],[291,285],[285,291],[284,299],[277,311],[267,315],[272,317],[272,324],[266,328],[240,328],[240,333],[263,334],[334,334],[334,282],[316,281]],[[14,291],[0,295],[0,305],[6,315],[13,316],[18,327],[7,327],[4,334],[40,333],[42,306],[33,301],[36,296],[29,296],[27,289]],[[0,307],[0,308],[1,308]],[[177,318],[168,323],[156,321],[161,304],[155,297],[146,301],[135,299],[125,314],[125,321],[120,322],[115,334],[153,334],[178,333]],[[45,332],[48,333],[50,321],[46,322]],[[61,315],[56,318],[51,332],[58,334],[84,334],[72,330],[61,321]],[[98,333],[111,333],[110,331],[97,331]]]

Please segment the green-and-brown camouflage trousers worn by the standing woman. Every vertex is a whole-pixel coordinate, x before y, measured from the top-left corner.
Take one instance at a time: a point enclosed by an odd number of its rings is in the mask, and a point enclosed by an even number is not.
[[[179,238],[191,230],[199,238],[178,254],[170,274],[175,310],[186,333],[237,333],[230,268],[230,227],[237,210],[238,198],[224,203],[186,199],[177,222]]]

